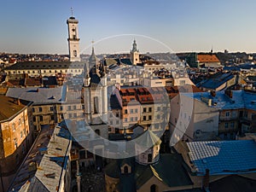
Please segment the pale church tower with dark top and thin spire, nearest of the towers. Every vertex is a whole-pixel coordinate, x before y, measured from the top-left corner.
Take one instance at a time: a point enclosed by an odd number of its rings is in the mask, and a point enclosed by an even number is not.
[[[96,57],[94,47],[92,47],[88,65],[84,65],[83,90],[86,123],[91,127],[93,125],[106,125],[108,121],[107,76],[104,66],[99,63]],[[101,132],[101,130],[99,131]],[[102,136],[102,134],[98,135]]]

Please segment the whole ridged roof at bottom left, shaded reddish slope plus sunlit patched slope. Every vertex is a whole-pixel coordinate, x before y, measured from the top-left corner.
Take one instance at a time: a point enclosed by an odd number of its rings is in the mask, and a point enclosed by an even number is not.
[[[44,132],[44,137],[48,137],[49,132]],[[26,160],[22,165],[20,174],[15,177],[15,184],[11,187],[12,191],[58,191],[61,186],[60,179],[63,177],[67,169],[68,155],[71,148],[71,137],[67,130],[59,126],[55,126],[54,132],[50,139],[44,139],[42,145],[38,144],[34,148],[38,148],[36,156],[33,159],[34,154],[28,156],[29,160]],[[42,140],[41,140],[42,141]],[[45,143],[48,142],[47,147]],[[35,152],[35,150],[34,150]],[[43,157],[42,157],[43,155]],[[41,160],[38,160],[41,159]],[[34,174],[31,174],[30,169],[34,160],[38,160],[38,167],[34,166]],[[23,177],[19,177],[19,176]],[[20,179],[20,182],[19,182]],[[13,190],[15,189],[15,190]]]

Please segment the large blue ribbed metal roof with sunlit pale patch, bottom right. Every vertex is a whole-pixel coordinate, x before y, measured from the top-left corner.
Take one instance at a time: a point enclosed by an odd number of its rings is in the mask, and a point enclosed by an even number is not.
[[[190,142],[187,145],[198,175],[204,175],[206,169],[210,170],[210,175],[256,172],[256,142],[253,140]]]

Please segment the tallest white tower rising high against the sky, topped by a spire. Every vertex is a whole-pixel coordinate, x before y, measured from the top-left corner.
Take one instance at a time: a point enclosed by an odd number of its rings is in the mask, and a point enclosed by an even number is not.
[[[69,61],[81,61],[79,53],[79,20],[73,17],[73,9],[71,9],[71,14],[71,17],[67,20]]]

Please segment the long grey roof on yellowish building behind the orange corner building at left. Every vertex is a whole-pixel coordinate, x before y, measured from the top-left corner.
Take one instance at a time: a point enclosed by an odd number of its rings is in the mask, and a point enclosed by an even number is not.
[[[6,96],[32,101],[35,105],[61,102],[65,95],[65,86],[57,88],[9,88],[6,93]]]

